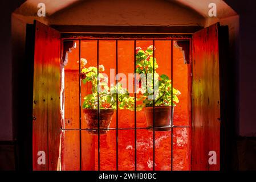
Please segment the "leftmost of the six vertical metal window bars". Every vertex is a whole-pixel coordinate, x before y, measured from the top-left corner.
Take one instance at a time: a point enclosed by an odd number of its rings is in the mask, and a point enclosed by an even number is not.
[[[81,40],[79,39],[79,166],[82,171],[82,130],[81,130]]]

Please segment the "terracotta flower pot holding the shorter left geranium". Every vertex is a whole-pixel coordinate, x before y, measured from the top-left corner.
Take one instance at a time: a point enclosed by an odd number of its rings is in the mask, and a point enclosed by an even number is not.
[[[84,118],[86,119],[86,123],[89,129],[88,133],[92,135],[97,135],[97,129],[98,129],[98,114],[97,109],[83,109],[84,111]],[[107,134],[107,129],[109,128],[110,122],[112,120],[114,110],[113,109],[100,109],[99,114],[99,123],[100,123],[100,129],[106,129],[106,130],[100,130],[100,134]]]

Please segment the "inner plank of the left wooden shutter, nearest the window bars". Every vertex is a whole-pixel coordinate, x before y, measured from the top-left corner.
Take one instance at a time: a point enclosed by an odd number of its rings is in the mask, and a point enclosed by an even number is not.
[[[60,168],[60,33],[48,27],[50,64],[48,67],[48,162],[49,170]]]

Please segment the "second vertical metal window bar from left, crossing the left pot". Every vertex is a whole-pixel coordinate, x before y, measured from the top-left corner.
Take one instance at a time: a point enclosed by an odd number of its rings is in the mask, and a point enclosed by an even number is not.
[[[97,39],[97,142],[98,171],[100,171],[99,39]]]

